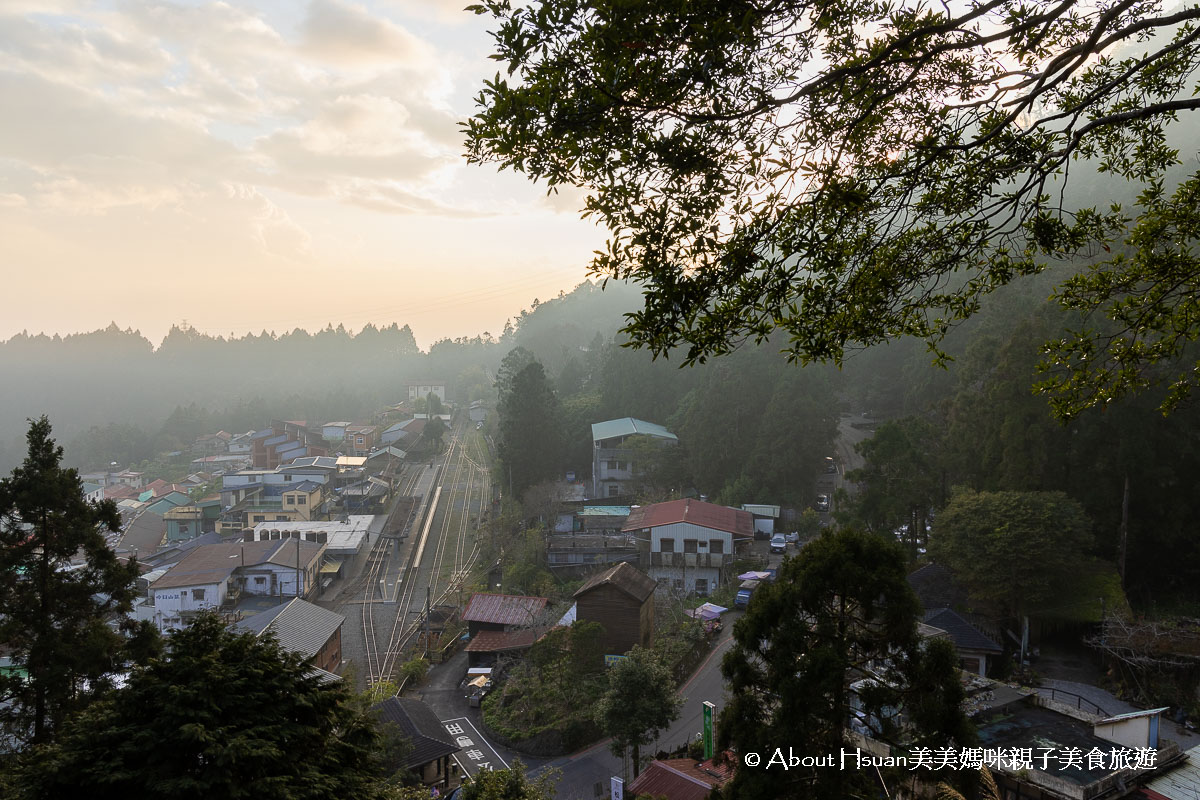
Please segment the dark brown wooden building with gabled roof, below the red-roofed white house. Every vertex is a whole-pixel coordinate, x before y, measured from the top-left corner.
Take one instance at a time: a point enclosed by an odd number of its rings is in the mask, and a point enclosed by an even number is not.
[[[575,593],[575,618],[604,626],[606,655],[623,655],[635,644],[648,648],[654,636],[656,585],[636,566],[618,564],[580,587]]]

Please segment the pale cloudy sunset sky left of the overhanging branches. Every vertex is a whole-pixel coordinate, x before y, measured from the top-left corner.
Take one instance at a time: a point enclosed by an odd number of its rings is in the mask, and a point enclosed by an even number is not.
[[[469,0],[0,0],[0,341],[499,333],[587,277],[578,194],[469,166]]]

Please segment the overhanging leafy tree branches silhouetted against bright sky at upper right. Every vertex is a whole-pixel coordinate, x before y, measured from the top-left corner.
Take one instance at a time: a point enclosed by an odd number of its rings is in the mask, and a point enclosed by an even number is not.
[[[988,294],[1080,259],[1057,289],[1079,321],[1044,348],[1057,413],[1200,380],[1171,365],[1200,336],[1200,173],[1168,137],[1200,108],[1200,6],[473,8],[506,74],[468,158],[588,192],[593,271],[644,288],[635,345],[702,361],[782,330],[802,362],[905,336],[941,359]],[[1115,192],[1136,199],[1093,205]]]

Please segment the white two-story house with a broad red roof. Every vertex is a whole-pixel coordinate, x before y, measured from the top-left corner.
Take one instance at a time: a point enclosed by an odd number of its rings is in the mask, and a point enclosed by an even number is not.
[[[637,536],[642,569],[660,590],[707,595],[754,540],[754,517],[701,500],[671,500],[632,509],[622,530]]]

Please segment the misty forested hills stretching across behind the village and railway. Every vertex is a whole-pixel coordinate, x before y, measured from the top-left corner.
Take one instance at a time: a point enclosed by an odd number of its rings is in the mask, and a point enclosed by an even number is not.
[[[25,419],[41,414],[68,463],[92,468],[271,419],[370,420],[398,402],[406,381],[425,377],[446,380],[452,402],[494,401],[506,359],[536,361],[554,409],[553,435],[540,437],[533,455],[547,474],[588,475],[592,422],[634,416],[679,437],[668,465],[677,488],[722,503],[803,506],[839,417],[865,411],[906,432],[872,457],[919,475],[918,488],[902,489],[918,503],[937,509],[958,486],[1062,491],[1082,505],[1094,555],[1108,560],[1118,555],[1128,480],[1130,599],[1200,600],[1200,500],[1189,491],[1200,477],[1200,411],[1192,403],[1164,416],[1151,390],[1056,420],[1033,386],[1044,343],[1078,324],[1048,301],[1058,277],[1051,270],[997,291],[950,332],[946,368],[905,339],[840,366],[788,363],[779,353],[786,343],[767,341],[680,367],[622,347],[623,314],[638,295],[612,282],[538,302],[499,338],[445,339],[427,351],[398,324],[230,339],[176,327],[158,348],[115,325],[61,338],[22,335],[0,343],[10,378],[0,395],[0,469],[18,462]]]

